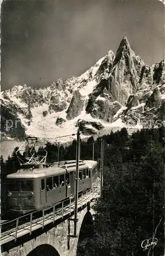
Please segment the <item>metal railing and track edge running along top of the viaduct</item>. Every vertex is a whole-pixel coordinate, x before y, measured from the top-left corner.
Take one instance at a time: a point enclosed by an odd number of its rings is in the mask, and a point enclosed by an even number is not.
[[[96,194],[97,194],[97,196],[96,196]],[[89,190],[83,192],[79,196],[78,208],[80,208],[80,207],[82,208],[83,205],[87,205],[87,203],[89,201],[94,199],[93,196],[95,196],[95,199],[99,198],[100,195],[99,195],[99,187],[98,186],[90,188]],[[16,242],[16,240],[18,238],[17,233],[18,233],[18,230],[20,230],[20,229],[29,230],[29,233],[31,235],[32,234],[32,228],[35,225],[40,225],[40,226],[42,226],[42,229],[44,229],[45,222],[48,221],[48,220],[50,220],[50,222],[53,222],[53,224],[54,224],[56,219],[61,218],[61,220],[63,220],[65,215],[69,214],[69,217],[71,215],[74,215],[74,200],[75,200],[75,196],[73,196],[72,198],[66,199],[62,202],[58,202],[56,204],[53,204],[49,207],[31,212],[30,214],[21,216],[21,217],[19,217],[17,219],[14,219],[12,221],[2,223],[0,225],[1,229],[2,229],[3,226],[10,225],[10,224],[11,224],[12,228],[11,229],[9,228],[7,231],[1,233],[1,240],[4,240],[5,237],[8,237],[8,236],[11,237],[12,236],[12,237],[14,237],[14,240]],[[56,208],[56,207],[58,207],[58,208]],[[48,212],[48,214],[46,214],[46,211],[49,211],[49,210],[51,212]],[[42,216],[40,218],[33,219],[33,217],[35,217],[34,215],[36,215],[37,212],[38,213],[40,212],[42,214]],[[23,220],[24,220],[24,222],[22,223]],[[25,222],[25,220],[26,220],[26,222]],[[16,225],[14,225],[14,223]]]

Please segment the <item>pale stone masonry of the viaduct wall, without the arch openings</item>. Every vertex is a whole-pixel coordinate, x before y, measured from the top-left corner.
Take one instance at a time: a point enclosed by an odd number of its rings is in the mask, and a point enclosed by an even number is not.
[[[91,203],[92,204],[92,203]],[[90,204],[90,206],[91,206]],[[68,220],[53,227],[46,233],[42,233],[40,236],[36,237],[23,244],[23,246],[15,247],[9,252],[3,252],[2,256],[27,256],[33,249],[37,246],[43,244],[52,245],[60,254],[60,256],[76,256],[77,244],[79,239],[79,233],[81,229],[81,224],[83,222],[84,216],[87,213],[88,207],[85,207],[78,212],[78,222],[77,222],[77,238],[69,238],[69,249],[68,249]],[[91,215],[95,214],[93,209],[90,209]],[[73,218],[73,217],[72,217]],[[70,221],[70,235],[74,234],[74,221]]]

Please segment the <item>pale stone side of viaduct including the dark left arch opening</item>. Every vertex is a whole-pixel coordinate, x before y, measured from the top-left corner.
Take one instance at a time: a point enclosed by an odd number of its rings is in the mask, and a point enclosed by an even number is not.
[[[8,252],[2,252],[3,256],[76,256],[79,234],[85,217],[93,218],[95,211],[92,203],[78,212],[77,238],[68,238],[68,231],[74,234],[74,221],[64,220],[57,226],[39,234],[31,240],[17,245]],[[46,252],[45,252],[46,251]],[[46,254],[47,253],[47,254]]]

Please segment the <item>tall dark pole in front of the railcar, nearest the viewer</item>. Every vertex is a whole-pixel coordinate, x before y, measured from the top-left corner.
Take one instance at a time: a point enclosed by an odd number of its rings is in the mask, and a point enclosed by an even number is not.
[[[77,146],[76,146],[76,184],[75,184],[75,219],[74,219],[74,236],[77,236],[77,212],[78,212],[78,186],[79,186],[79,156],[80,156],[80,131],[77,131]]]

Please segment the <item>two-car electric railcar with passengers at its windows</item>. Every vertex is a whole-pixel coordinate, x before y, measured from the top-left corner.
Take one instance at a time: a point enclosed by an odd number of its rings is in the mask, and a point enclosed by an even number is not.
[[[15,214],[39,210],[75,193],[76,161],[58,166],[20,169],[7,175],[9,209]],[[92,188],[98,177],[96,161],[79,161],[79,192]]]

